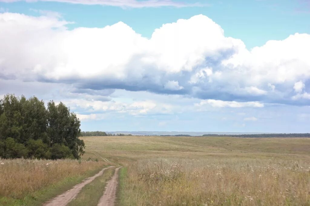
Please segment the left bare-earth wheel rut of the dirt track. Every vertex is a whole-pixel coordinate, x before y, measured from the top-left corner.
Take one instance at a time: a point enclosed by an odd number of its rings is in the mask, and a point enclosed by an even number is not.
[[[110,166],[110,167],[113,167],[113,166]],[[96,177],[99,177],[100,175],[102,175],[104,170],[106,170],[110,167],[104,168],[100,172],[95,174],[94,176],[84,179],[81,183],[75,185],[72,189],[64,192],[61,195],[58,195],[57,197],[51,199],[50,201],[44,203],[43,205],[44,206],[64,206],[64,205],[68,204],[71,200],[73,200],[76,197],[76,195],[78,195],[78,193],[82,190],[82,188],[86,184],[93,181]]]

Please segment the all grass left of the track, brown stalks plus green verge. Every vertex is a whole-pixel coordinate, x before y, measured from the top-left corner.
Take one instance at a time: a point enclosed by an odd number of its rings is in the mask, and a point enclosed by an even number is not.
[[[0,205],[41,205],[106,165],[103,161],[0,159]]]

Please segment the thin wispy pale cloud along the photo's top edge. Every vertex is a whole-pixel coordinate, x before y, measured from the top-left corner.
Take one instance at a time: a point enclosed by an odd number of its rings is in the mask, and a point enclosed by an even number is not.
[[[18,2],[23,0],[0,0],[0,2]],[[187,7],[187,6],[207,6],[207,4],[200,3],[182,3],[172,0],[24,0],[26,2],[67,2],[73,4],[87,4],[87,5],[106,5],[106,6],[121,6],[121,7],[133,7],[133,8],[143,8],[143,7],[160,7],[160,6],[175,6],[175,7]]]

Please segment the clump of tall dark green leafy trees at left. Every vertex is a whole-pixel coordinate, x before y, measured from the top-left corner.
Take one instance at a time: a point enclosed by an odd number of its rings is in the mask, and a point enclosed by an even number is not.
[[[0,100],[1,158],[76,158],[84,154],[80,120],[63,103],[7,94]]]

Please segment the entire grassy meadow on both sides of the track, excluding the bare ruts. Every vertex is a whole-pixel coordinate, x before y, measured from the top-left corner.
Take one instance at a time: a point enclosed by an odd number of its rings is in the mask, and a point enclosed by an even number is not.
[[[0,159],[0,205],[41,205],[117,164],[123,166],[117,205],[310,205],[310,138],[80,139],[86,145],[80,161]],[[96,205],[113,171],[70,205]]]

